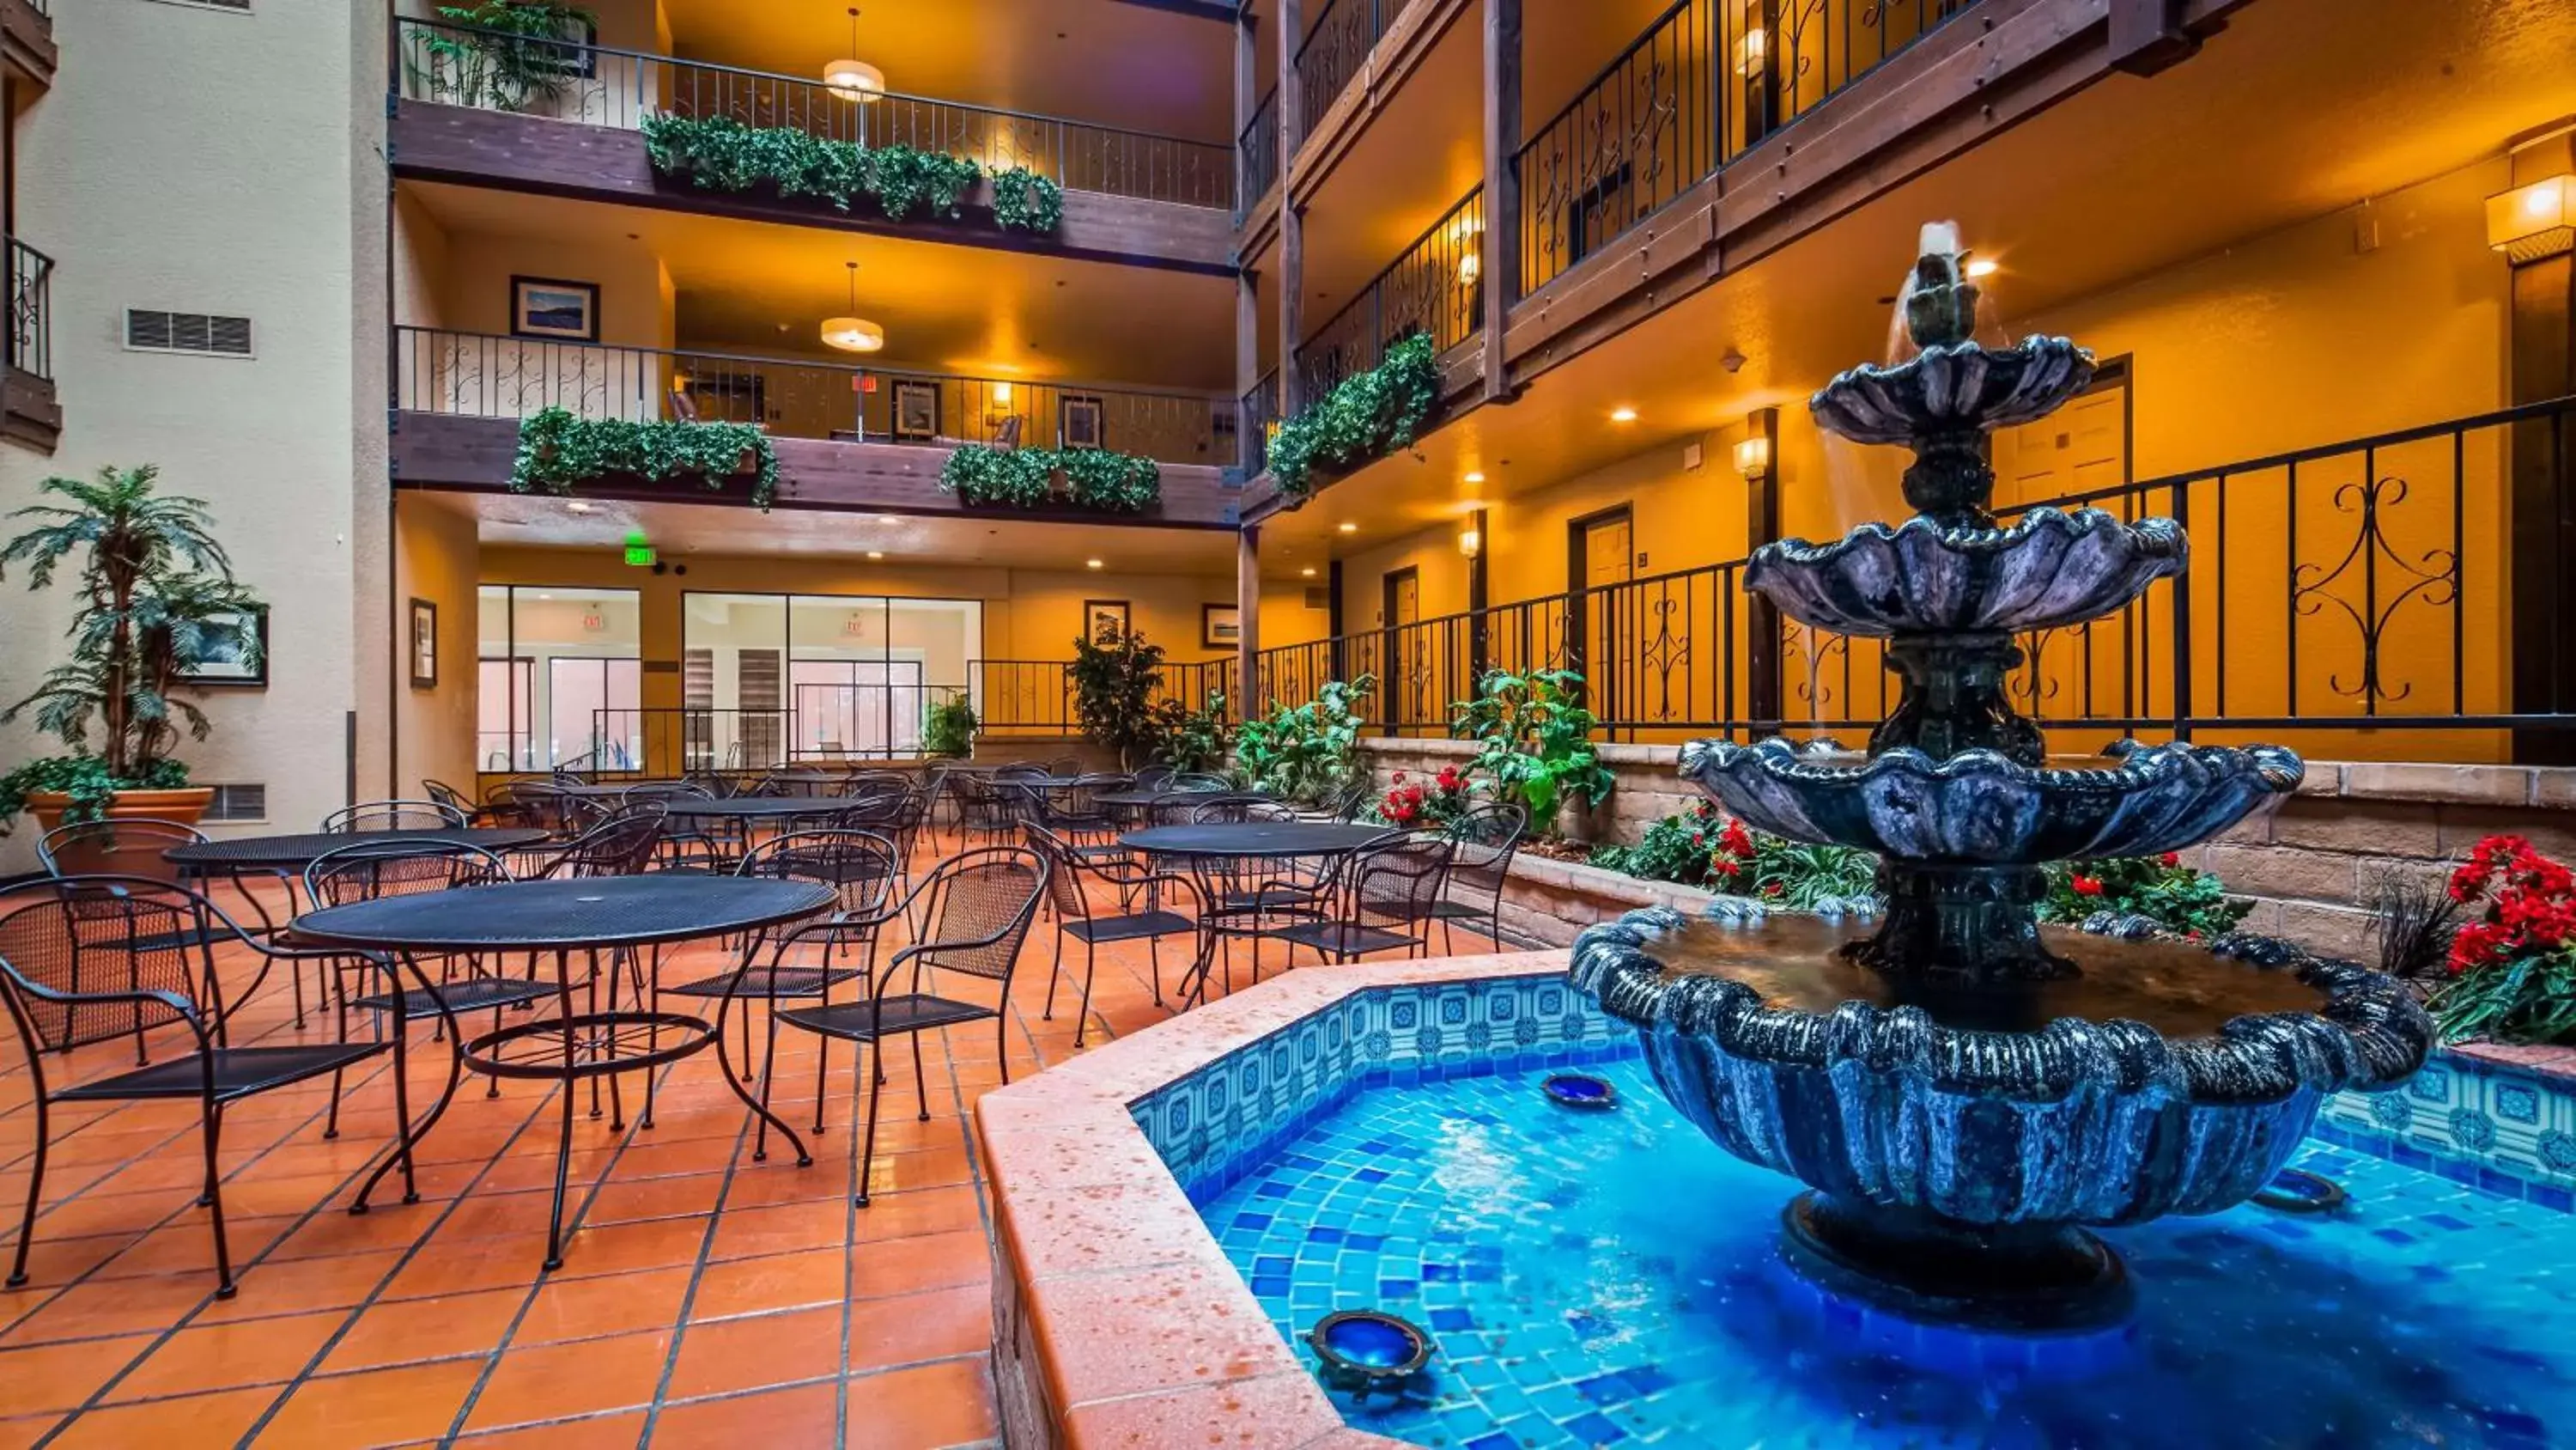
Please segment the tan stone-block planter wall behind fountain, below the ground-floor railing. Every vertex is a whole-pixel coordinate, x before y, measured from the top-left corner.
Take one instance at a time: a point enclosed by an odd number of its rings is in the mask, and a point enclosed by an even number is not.
[[[1455,739],[1368,739],[1363,749],[1381,788],[1396,770],[1427,775],[1473,757],[1473,747]],[[1597,816],[1602,842],[1633,845],[1649,824],[1700,798],[1680,778],[1677,747],[1605,744],[1602,762],[1618,773],[1618,793]],[[2524,834],[2543,852],[2576,863],[2576,767],[2311,760],[2306,783],[2280,811],[2184,858],[2257,901],[2246,930],[2370,961],[2378,945],[2365,901],[2380,873],[2445,873],[2478,837],[2496,832]],[[1525,858],[1504,894],[1502,925],[1535,943],[1566,945],[1602,914],[1667,894],[1700,896]]]

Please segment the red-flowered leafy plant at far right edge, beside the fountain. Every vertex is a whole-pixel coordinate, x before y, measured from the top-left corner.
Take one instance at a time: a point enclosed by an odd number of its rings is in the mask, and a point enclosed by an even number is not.
[[[2576,1043],[2576,876],[2522,837],[2486,837],[2450,873],[2478,919],[2450,937],[2432,994],[2447,1040]]]

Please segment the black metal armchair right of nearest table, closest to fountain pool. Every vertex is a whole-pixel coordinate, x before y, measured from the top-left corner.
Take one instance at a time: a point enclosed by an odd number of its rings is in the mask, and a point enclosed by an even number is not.
[[[860,1208],[868,1205],[868,1167],[876,1162],[886,1038],[912,1038],[912,1087],[920,1095],[922,1123],[930,1120],[922,1033],[989,1020],[994,1051],[1002,1059],[1002,1082],[1010,1082],[1010,976],[1028,943],[1028,927],[1038,917],[1038,901],[1046,896],[1046,858],[1025,847],[969,850],[943,860],[904,896],[902,907],[894,907],[907,922],[920,925],[920,940],[894,953],[866,999],[829,1007],[781,1007],[770,1015],[773,1030],[788,1025],[876,1048],[860,1053],[860,1074],[868,1079],[868,1128],[858,1151]],[[799,940],[832,930],[832,922],[796,927],[778,940],[775,950],[783,953]],[[992,1002],[925,992],[925,974],[930,986],[940,986],[938,974],[943,971],[992,984]],[[894,992],[896,981],[904,984],[902,992]],[[765,1092],[770,1074],[762,1074],[760,1082]],[[799,1156],[804,1156],[801,1146]]]

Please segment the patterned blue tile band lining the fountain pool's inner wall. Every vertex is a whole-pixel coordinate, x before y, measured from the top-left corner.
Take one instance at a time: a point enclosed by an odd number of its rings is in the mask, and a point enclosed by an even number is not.
[[[1561,976],[1370,986],[1128,1105],[1206,1205],[1352,1092],[1636,1056],[1636,1033]],[[2576,1213],[2576,1082],[2434,1053],[2396,1092],[2339,1092],[2316,1138]]]

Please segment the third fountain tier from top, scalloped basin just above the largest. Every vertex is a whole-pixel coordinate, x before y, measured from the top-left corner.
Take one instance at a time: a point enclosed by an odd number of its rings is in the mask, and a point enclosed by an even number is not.
[[[1682,747],[1682,775],[1759,832],[1991,868],[2182,850],[2275,806],[2303,767],[2269,744],[2123,744],[2099,767],[2053,767],[1994,749],[1857,757],[1703,739]]]

